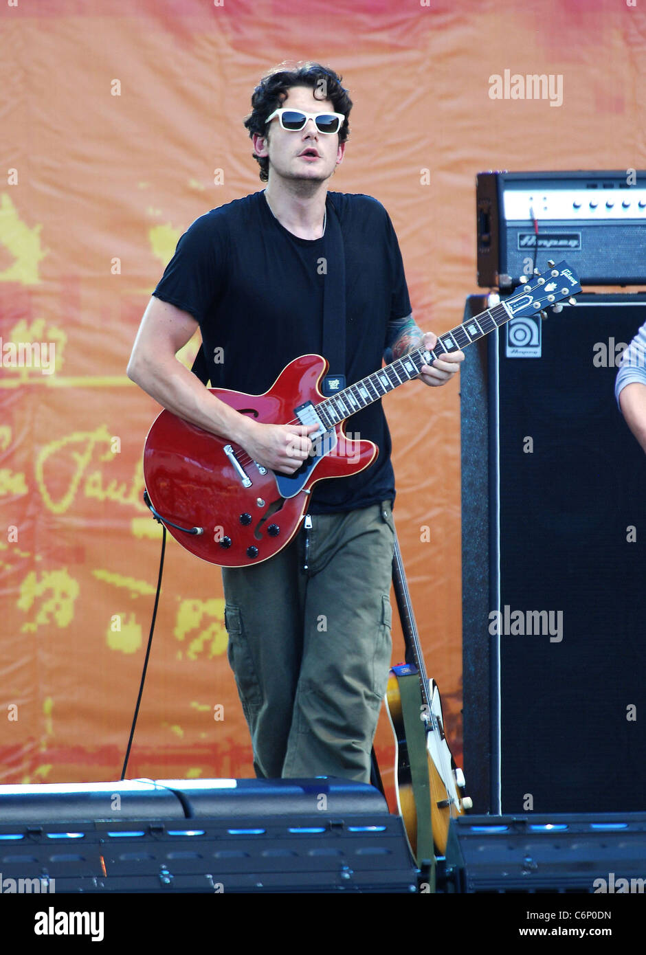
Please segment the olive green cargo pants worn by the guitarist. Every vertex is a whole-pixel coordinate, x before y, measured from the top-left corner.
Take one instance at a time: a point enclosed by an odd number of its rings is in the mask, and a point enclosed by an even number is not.
[[[269,561],[223,568],[228,661],[256,775],[370,781],[394,546],[385,501],[312,515]]]

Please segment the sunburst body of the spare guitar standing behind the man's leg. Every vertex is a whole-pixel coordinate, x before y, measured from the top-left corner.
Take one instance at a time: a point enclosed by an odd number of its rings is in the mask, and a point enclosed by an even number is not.
[[[411,852],[417,858],[418,814],[413,791],[409,746],[406,741],[405,726],[408,725],[411,732],[418,735],[418,745],[421,743],[426,751],[433,843],[436,854],[443,856],[446,852],[451,819],[462,816],[466,808],[461,794],[463,778],[456,767],[444,735],[440,690],[434,680],[428,681],[428,706],[432,711],[428,714],[428,719],[420,718],[424,715],[421,693],[418,697],[419,705],[416,703],[411,712],[406,712],[404,719],[405,704],[399,689],[399,681],[410,676],[416,676],[419,679],[415,667],[405,665],[392,668],[386,690],[386,707],[396,739],[395,789],[398,810],[404,822]],[[470,806],[471,800],[465,801],[466,805]]]

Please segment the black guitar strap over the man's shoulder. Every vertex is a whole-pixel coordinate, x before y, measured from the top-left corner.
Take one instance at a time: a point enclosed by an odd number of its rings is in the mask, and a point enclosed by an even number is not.
[[[323,356],[327,358],[328,373],[321,382],[321,391],[326,397],[342,392],[345,381],[345,349],[346,349],[346,309],[345,309],[345,247],[341,233],[341,223],[334,206],[334,200],[328,194],[327,218],[325,234],[323,236],[322,268],[325,282],[323,283]],[[209,378],[208,363],[204,345],[195,356],[191,368],[203,385]]]

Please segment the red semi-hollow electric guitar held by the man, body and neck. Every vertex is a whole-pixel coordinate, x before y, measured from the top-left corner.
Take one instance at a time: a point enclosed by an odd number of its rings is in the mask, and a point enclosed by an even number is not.
[[[160,519],[183,547],[204,561],[238,567],[269,560],[298,530],[317,480],[357,474],[377,457],[372,441],[345,435],[345,419],[417,378],[423,365],[443,354],[464,349],[509,319],[536,315],[581,290],[565,262],[549,265],[549,271],[528,278],[505,302],[442,334],[434,350],[411,351],[332,397],[319,390],[328,364],[314,354],[295,358],[264,394],[210,389],[256,421],[318,425],[310,435],[312,455],[292,475],[270,471],[239,445],[163,411],[143,451],[146,489]]]

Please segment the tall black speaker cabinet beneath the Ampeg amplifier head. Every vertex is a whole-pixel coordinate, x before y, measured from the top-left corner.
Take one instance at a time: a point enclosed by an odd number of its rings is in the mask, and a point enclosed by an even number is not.
[[[646,808],[646,457],[614,400],[646,294],[577,300],[465,352],[464,771],[482,813]]]

